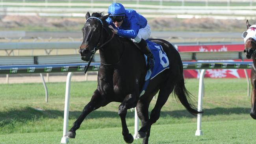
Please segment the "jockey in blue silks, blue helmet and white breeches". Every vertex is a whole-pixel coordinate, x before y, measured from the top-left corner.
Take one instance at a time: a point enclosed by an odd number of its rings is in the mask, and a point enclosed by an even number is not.
[[[151,28],[145,17],[133,9],[125,9],[122,4],[113,3],[108,7],[109,17],[106,22],[114,33],[121,37],[132,39],[139,45],[139,49],[147,55],[147,62],[150,68],[154,67],[155,61],[150,52],[146,39],[150,37]]]

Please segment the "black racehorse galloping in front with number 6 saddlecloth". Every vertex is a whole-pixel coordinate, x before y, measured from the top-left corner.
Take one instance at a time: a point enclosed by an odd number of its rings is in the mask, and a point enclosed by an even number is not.
[[[83,42],[79,52],[82,60],[89,61],[99,49],[101,64],[98,70],[98,86],[91,101],[84,107],[65,137],[75,138],[76,130],[92,111],[110,102],[120,102],[118,114],[121,118],[125,142],[132,143],[134,140],[126,125],[126,113],[127,109],[136,107],[137,115],[141,120],[141,129],[136,137],[144,138],[143,143],[147,144],[150,127],[159,119],[160,110],[173,90],[189,113],[194,115],[202,113],[190,102],[191,95],[184,85],[182,61],[173,45],[162,39],[152,39],[163,47],[169,59],[170,68],[150,80],[145,94],[139,97],[147,71],[143,54],[132,41],[113,34],[105,22],[108,15],[93,13],[91,17],[87,12],[85,17],[87,21],[82,28]],[[158,91],[156,105],[149,117],[149,103]]]

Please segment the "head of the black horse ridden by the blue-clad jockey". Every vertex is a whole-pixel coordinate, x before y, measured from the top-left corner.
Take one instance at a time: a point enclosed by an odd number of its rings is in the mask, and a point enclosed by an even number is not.
[[[83,42],[79,48],[79,53],[83,61],[89,61],[102,44],[104,23],[108,15],[103,16],[103,13],[93,13],[91,16],[87,12],[85,18],[86,22],[82,28]]]

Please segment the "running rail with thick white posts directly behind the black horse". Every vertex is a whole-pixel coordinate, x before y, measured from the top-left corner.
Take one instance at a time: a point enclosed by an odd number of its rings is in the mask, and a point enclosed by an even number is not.
[[[201,70],[199,78],[198,89],[198,110],[202,111],[202,98],[204,96],[204,72],[206,69],[251,69],[252,62],[183,62],[183,68]],[[57,65],[9,65],[0,66],[0,74],[31,74],[31,73],[54,73],[54,72],[68,72],[65,90],[65,108],[64,108],[64,122],[63,122],[63,137],[61,143],[67,143],[68,139],[64,137],[68,128],[69,118],[69,97],[70,97],[70,81],[72,72],[83,72],[87,63],[75,64],[57,64]],[[88,71],[97,71],[100,63],[91,63]],[[46,87],[46,85],[45,85]],[[202,135],[202,114],[197,115],[197,130],[195,135]],[[139,118],[135,109],[135,125],[134,130],[137,132],[139,129]],[[136,133],[134,134],[135,137]]]

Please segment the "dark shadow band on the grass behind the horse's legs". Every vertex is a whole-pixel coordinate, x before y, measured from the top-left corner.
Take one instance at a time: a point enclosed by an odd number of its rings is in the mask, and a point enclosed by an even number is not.
[[[130,110],[128,110],[130,111]],[[228,115],[228,114],[249,114],[250,109],[244,107],[235,107],[235,108],[221,108],[217,107],[214,109],[204,109],[204,115]],[[69,119],[76,119],[81,114],[80,111],[70,111]],[[173,118],[195,118],[192,114],[190,114],[186,110],[178,110],[178,111],[163,111],[161,112],[161,117],[173,117]],[[11,123],[13,120],[19,122],[26,122],[27,120],[35,120],[36,118],[59,118],[63,117],[63,111],[56,110],[46,110],[39,111],[33,109],[32,107],[25,107],[24,109],[14,109],[8,112],[0,112],[0,127]],[[91,118],[119,118],[117,112],[113,111],[93,111],[90,113],[86,119]],[[128,112],[126,118],[134,118],[134,113]]]

